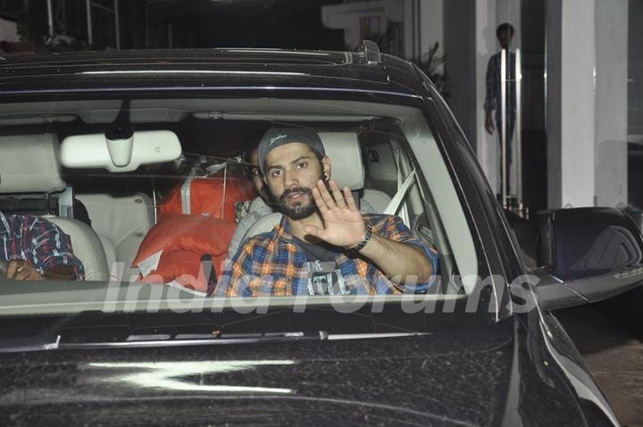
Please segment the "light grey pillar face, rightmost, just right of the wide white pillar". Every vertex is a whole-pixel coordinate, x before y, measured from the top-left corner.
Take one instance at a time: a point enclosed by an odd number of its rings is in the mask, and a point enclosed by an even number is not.
[[[596,0],[597,204],[628,203],[628,0]]]

